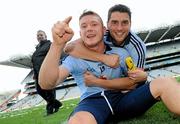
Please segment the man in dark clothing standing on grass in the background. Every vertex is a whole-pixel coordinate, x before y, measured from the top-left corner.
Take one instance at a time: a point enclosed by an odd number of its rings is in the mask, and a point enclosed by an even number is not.
[[[44,90],[38,84],[39,70],[47,52],[49,51],[51,41],[47,40],[46,33],[42,30],[37,31],[37,40],[39,44],[36,46],[36,50],[32,55],[34,80],[36,83],[37,93],[47,102],[47,115],[50,115],[57,112],[59,108],[62,106],[62,103],[56,99],[55,89]]]

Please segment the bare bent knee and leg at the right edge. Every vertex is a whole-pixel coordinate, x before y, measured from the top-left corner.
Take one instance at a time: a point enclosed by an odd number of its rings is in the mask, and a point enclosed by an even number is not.
[[[154,98],[161,99],[171,112],[180,115],[180,83],[175,78],[153,80],[150,91]]]

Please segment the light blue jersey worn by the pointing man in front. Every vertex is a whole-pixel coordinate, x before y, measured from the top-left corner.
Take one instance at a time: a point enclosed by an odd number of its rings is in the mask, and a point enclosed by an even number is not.
[[[94,62],[75,58],[68,56],[62,63],[62,66],[67,68],[69,72],[75,79],[77,86],[81,91],[81,100],[93,95],[95,93],[101,92],[105,89],[100,87],[87,87],[84,84],[83,73],[86,71],[91,72],[97,77],[103,76],[107,79],[113,79],[118,77],[124,77],[127,72],[127,67],[125,64],[125,58],[129,56],[128,52],[123,48],[112,49],[106,51],[106,54],[118,54],[120,56],[120,66],[116,69],[110,68],[101,62]]]

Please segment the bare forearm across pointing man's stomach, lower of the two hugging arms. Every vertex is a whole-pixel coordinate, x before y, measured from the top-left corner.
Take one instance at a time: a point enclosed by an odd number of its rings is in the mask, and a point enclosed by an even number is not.
[[[112,80],[104,80],[97,78],[96,80],[94,80],[93,83],[95,86],[113,90],[129,90],[133,89],[136,86],[135,82],[128,77],[116,78]]]

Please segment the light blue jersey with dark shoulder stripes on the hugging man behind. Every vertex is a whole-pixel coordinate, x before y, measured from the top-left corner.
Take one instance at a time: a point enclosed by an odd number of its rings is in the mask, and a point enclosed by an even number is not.
[[[146,58],[146,46],[145,43],[132,31],[129,32],[128,36],[124,40],[124,43],[120,46],[115,44],[114,39],[111,37],[109,31],[107,30],[104,41],[106,44],[110,45],[112,49],[115,47],[121,47],[128,51],[129,55],[132,57],[135,65],[138,68],[144,68],[145,58]]]

